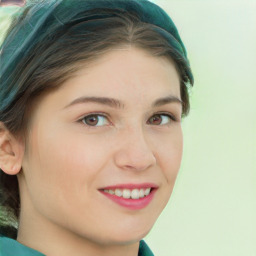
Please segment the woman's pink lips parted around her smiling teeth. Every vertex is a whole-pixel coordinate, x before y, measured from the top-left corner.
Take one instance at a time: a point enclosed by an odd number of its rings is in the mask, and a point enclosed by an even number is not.
[[[151,192],[149,195],[143,197],[143,198],[139,198],[139,199],[126,199],[123,197],[119,197],[116,195],[112,195],[109,194],[107,192],[104,192],[105,190],[115,190],[115,189],[140,189],[140,188],[151,188]],[[107,198],[109,198],[110,200],[112,200],[113,202],[126,207],[130,210],[140,210],[145,208],[154,198],[154,195],[157,191],[157,186],[155,184],[152,183],[143,183],[143,184],[120,184],[120,185],[115,185],[115,186],[109,186],[109,187],[105,187],[103,189],[100,189],[99,191],[106,196]]]

